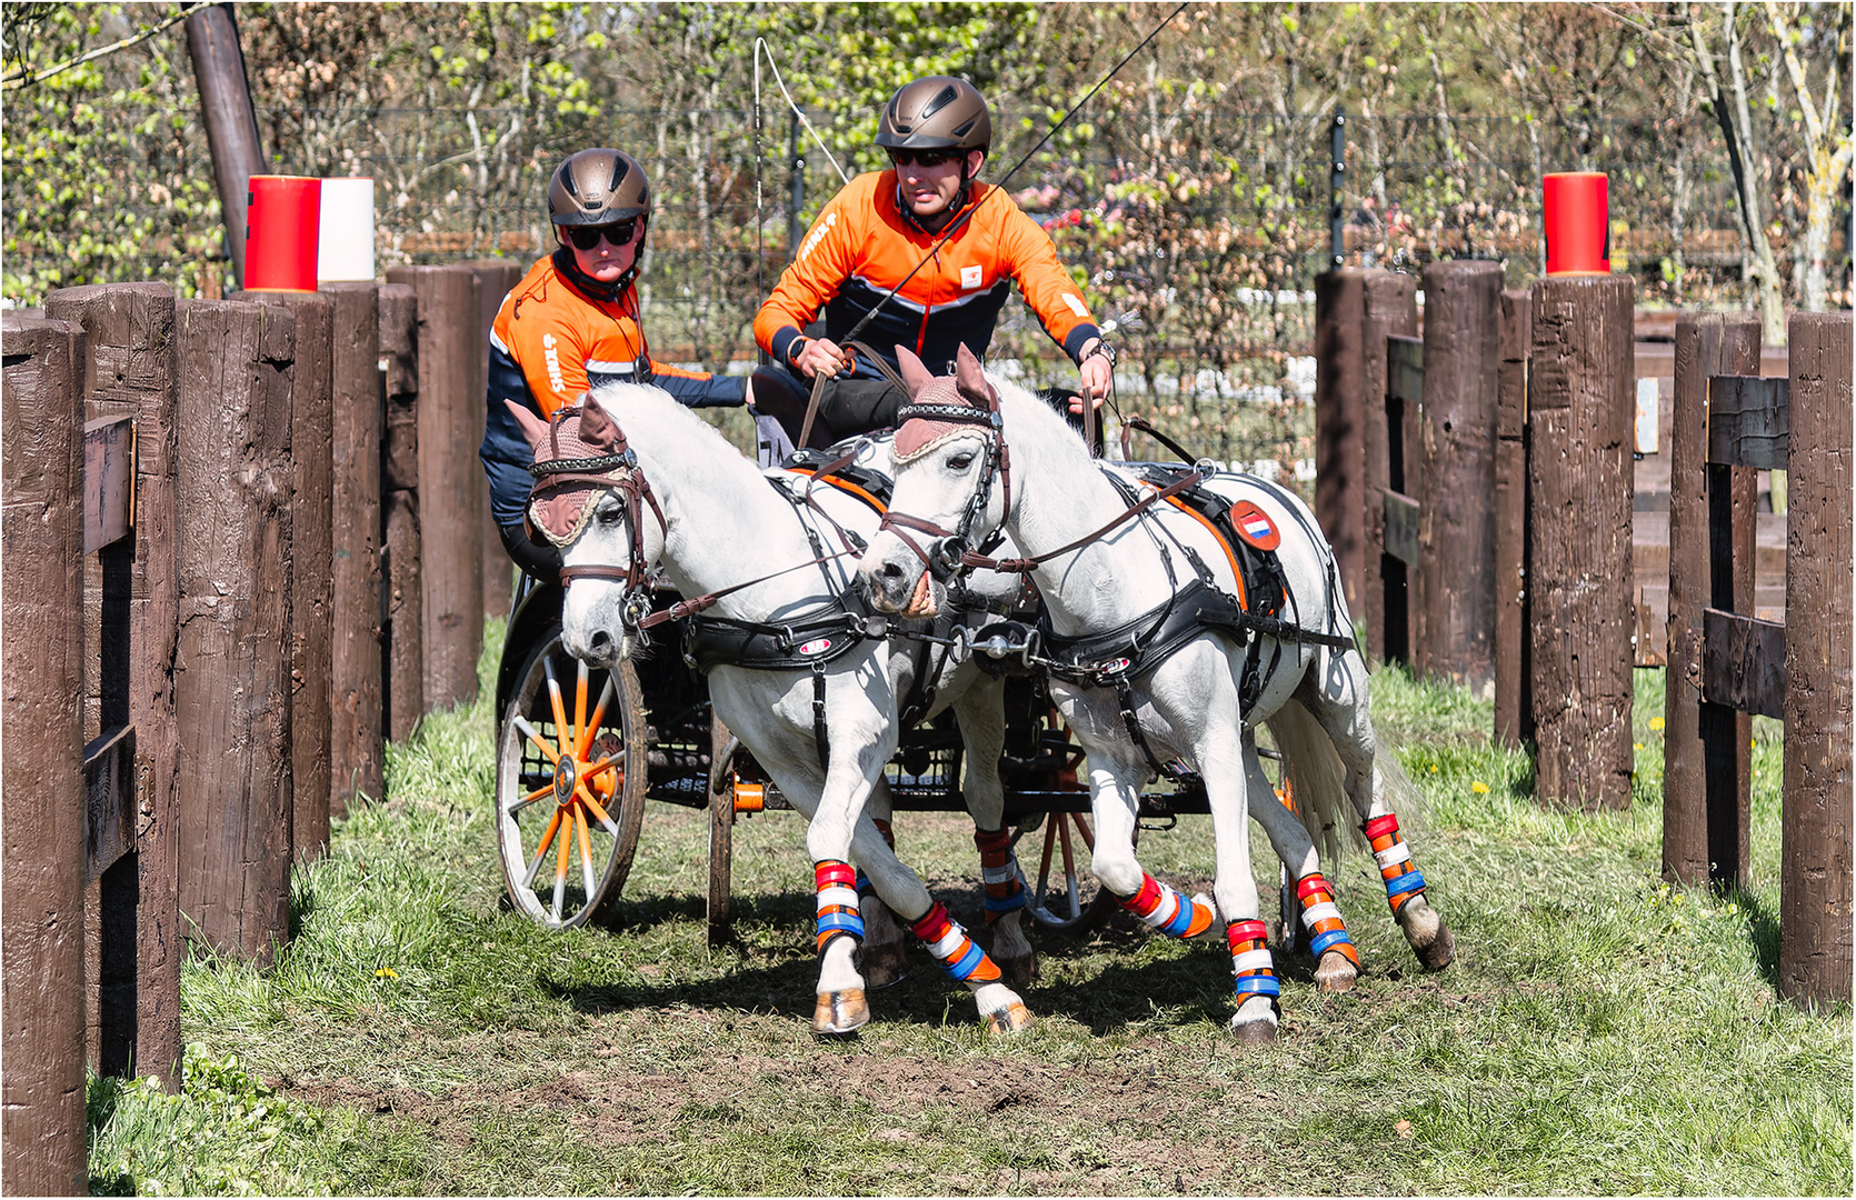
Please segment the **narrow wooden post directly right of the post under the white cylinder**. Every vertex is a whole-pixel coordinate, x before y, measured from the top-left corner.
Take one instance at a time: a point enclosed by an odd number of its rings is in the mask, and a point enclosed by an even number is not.
[[[380,287],[380,649],[386,736],[405,742],[425,714],[423,588],[419,586],[419,297]]]

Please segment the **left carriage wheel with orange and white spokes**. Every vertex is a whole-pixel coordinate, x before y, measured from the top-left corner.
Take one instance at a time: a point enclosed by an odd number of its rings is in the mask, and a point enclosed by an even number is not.
[[[509,901],[551,929],[596,920],[625,887],[644,822],[646,734],[629,662],[588,668],[544,631],[496,755],[496,842]]]

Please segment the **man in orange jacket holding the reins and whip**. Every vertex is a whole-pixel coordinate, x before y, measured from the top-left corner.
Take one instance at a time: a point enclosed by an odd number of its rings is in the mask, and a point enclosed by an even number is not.
[[[960,345],[984,358],[1015,282],[1078,365],[1084,393],[1097,404],[1108,395],[1112,354],[1050,236],[1012,197],[974,178],[991,141],[986,98],[965,80],[932,74],[902,85],[883,106],[876,145],[889,152],[891,169],[859,174],[824,206],[754,319],[754,338],[774,360],[754,373],[754,406],[778,419],[794,445],[820,373],[828,382],[813,447],[895,425],[908,397],[841,339],[896,286],[857,338],[891,369],[898,343],[932,371],[952,364]],[[961,215],[965,224],[930,258]],[[806,336],[820,310],[822,332]],[[1080,401],[1075,406],[1080,412]]]

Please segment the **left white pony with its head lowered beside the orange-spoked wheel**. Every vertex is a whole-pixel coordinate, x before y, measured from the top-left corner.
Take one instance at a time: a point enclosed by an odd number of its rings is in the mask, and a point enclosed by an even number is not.
[[[854,579],[846,558],[874,536],[878,512],[839,488],[807,488],[806,475],[763,475],[659,388],[609,384],[548,425],[510,408],[536,456],[531,517],[562,551],[561,636],[574,657],[612,666],[638,653],[650,610],[646,575],[659,564],[683,597],[702,597],[692,621],[709,640],[694,655],[715,712],[809,820],[820,957],[813,1029],[843,1035],[870,1018],[856,953],[865,926],[852,861],[971,989],[995,1033],[1030,1024],[999,964],[1012,977],[1036,970],[1019,927],[1023,875],[1002,831],[1002,681],[969,660],[945,671],[924,712],[952,707],[967,744],[961,790],[982,849],[987,911],[1000,914],[993,926],[999,963],[896,861],[887,831],[867,811],[876,792],[872,809],[889,812],[883,766],[896,749],[898,697],[917,673],[913,644],[869,636],[865,623],[883,619],[848,612],[839,599]],[[759,666],[741,666],[742,657],[757,657]],[[891,968],[898,961],[900,940]]]

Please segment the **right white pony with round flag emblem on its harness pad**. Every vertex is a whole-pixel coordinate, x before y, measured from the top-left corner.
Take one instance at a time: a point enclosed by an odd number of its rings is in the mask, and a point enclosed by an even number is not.
[[[954,377],[941,378],[908,351],[898,356],[913,402],[900,414],[883,532],[859,568],[872,605],[913,618],[935,612],[947,577],[1000,566],[973,549],[1000,529],[1028,555],[1004,566],[1028,569],[1043,595],[1052,697],[1088,749],[1091,868],[1102,887],[1175,937],[1212,926],[1208,905],[1156,883],[1134,857],[1140,790],[1164,762],[1182,759],[1203,777],[1212,811],[1214,894],[1236,970],[1234,1033],[1273,1040],[1281,1011],[1257,920],[1247,816],[1299,881],[1321,987],[1351,987],[1359,964],[1310,838],[1312,831],[1338,855],[1344,799],[1373,846],[1412,950],[1425,966],[1446,966],[1453,938],[1424,898],[1424,875],[1385,796],[1388,779],[1411,785],[1394,764],[1375,766],[1366,666],[1351,642],[1333,551],[1307,506],[1257,479],[1205,480],[1218,504],[1229,504],[1240,538],[1264,551],[1258,562],[1275,551],[1284,595],[1264,616],[1268,597],[1253,597],[1249,608],[1242,599],[1238,558],[1247,549],[1169,503],[1177,491],[1091,460],[1049,406],[986,378],[965,349]],[[1130,514],[1134,506],[1140,512]],[[1258,721],[1282,749],[1301,820],[1271,798],[1257,759]]]

